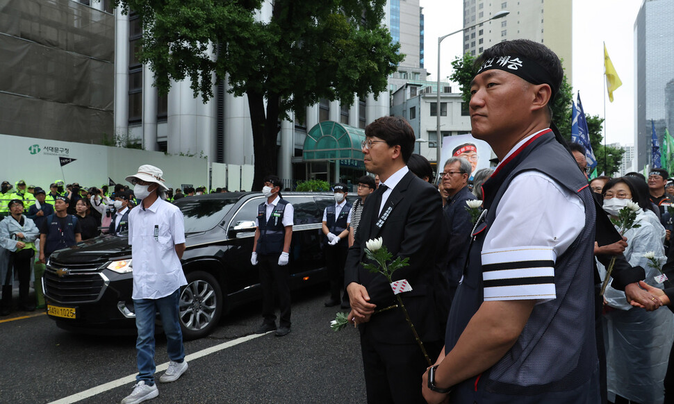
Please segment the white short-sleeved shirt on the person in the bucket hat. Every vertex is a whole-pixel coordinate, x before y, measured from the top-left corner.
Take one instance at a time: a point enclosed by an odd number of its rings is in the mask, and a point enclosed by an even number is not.
[[[187,285],[176,244],[185,242],[183,214],[158,198],[146,209],[129,212],[129,244],[133,258],[134,299],[162,298]]]

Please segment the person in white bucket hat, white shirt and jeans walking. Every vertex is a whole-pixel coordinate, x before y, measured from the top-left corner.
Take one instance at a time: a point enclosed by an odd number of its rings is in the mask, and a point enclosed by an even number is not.
[[[180,258],[185,251],[183,214],[164,201],[168,187],[161,169],[151,165],[138,167],[138,173],[126,177],[134,185],[133,194],[140,204],[129,213],[129,244],[132,246],[133,305],[138,340],[138,376],[131,395],[122,404],[135,404],[159,395],[154,383],[154,321],[161,314],[167,339],[169,367],[160,382],[177,380],[186,370],[183,335],[178,319],[180,287],[187,285]],[[130,266],[130,265],[129,265]]]

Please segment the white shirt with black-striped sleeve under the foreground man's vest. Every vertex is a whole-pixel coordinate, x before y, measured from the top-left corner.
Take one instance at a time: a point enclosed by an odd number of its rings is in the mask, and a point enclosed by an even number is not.
[[[534,135],[518,142],[502,161]],[[580,196],[540,171],[518,174],[498,203],[482,246],[483,267],[497,268],[484,271],[483,280],[492,285],[499,281],[509,285],[485,286],[484,301],[537,299],[544,303],[554,299],[554,262],[584,227],[585,207]],[[536,261],[539,264],[527,264]],[[508,264],[509,269],[498,269],[503,264]],[[552,282],[527,283],[527,278],[533,277]]]

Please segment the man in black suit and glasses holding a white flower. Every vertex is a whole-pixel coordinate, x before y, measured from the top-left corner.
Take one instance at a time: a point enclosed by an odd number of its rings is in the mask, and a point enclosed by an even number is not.
[[[414,132],[402,118],[381,117],[365,128],[365,168],[381,183],[368,196],[354,245],[349,249],[345,284],[359,325],[368,403],[424,403],[419,392],[428,367],[400,308],[377,312],[396,299],[381,274],[363,268],[365,242],[382,237],[393,258],[409,258],[409,266],[393,273],[406,279],[411,292],[400,296],[430,357],[440,352],[443,330],[434,305],[436,227],[442,219],[438,191],[409,172],[406,162]]]

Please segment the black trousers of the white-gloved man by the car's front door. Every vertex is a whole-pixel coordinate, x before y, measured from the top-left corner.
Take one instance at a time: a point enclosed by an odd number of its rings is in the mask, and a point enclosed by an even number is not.
[[[258,268],[262,285],[262,317],[266,324],[275,324],[274,290],[279,296],[281,310],[279,326],[290,328],[290,286],[288,265],[279,265],[281,254],[258,254]]]

